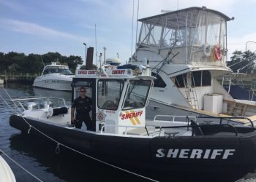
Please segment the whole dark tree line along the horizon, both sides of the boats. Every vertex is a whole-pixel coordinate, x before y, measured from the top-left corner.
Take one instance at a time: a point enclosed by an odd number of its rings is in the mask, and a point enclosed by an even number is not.
[[[43,62],[42,62],[43,60]],[[75,73],[78,65],[83,63],[80,56],[69,55],[69,57],[59,54],[59,52],[48,52],[44,55],[29,54],[18,52],[0,52],[0,73],[29,73],[38,74],[42,72],[43,64],[48,65],[51,62],[59,62],[62,65],[69,66],[70,71]],[[251,74],[256,73],[256,54],[251,51],[238,51],[233,52],[230,61],[227,61],[233,72]],[[85,69],[85,66],[81,67]],[[93,65],[92,69],[97,68]]]

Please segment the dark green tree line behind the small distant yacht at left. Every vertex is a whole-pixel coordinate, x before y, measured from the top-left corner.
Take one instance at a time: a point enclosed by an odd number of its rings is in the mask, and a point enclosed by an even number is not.
[[[1,73],[29,73],[39,74],[44,65],[51,62],[59,62],[69,66],[70,71],[75,73],[77,65],[82,64],[80,56],[69,55],[69,57],[59,54],[59,52],[48,52],[44,55],[29,54],[18,52],[0,52],[0,72]]]

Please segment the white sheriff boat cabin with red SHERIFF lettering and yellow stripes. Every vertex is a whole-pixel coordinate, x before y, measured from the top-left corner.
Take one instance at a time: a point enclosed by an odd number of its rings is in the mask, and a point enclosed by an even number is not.
[[[145,67],[146,68],[146,67]],[[153,85],[153,76],[145,70],[104,68],[77,70],[73,78],[73,99],[79,96],[80,87],[92,99],[91,119],[96,132],[124,134],[129,129],[145,128],[145,107]]]

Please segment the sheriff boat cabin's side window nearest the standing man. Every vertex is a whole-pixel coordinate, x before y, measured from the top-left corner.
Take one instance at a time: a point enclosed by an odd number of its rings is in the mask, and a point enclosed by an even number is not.
[[[99,80],[98,108],[117,110],[124,82],[120,80]]]

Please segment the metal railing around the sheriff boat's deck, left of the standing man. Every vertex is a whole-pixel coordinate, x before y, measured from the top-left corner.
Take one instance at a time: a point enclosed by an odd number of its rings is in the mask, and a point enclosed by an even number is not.
[[[15,114],[26,110],[37,110],[41,108],[67,107],[64,98],[18,98],[10,100],[14,103]],[[20,108],[22,111],[20,111]]]

